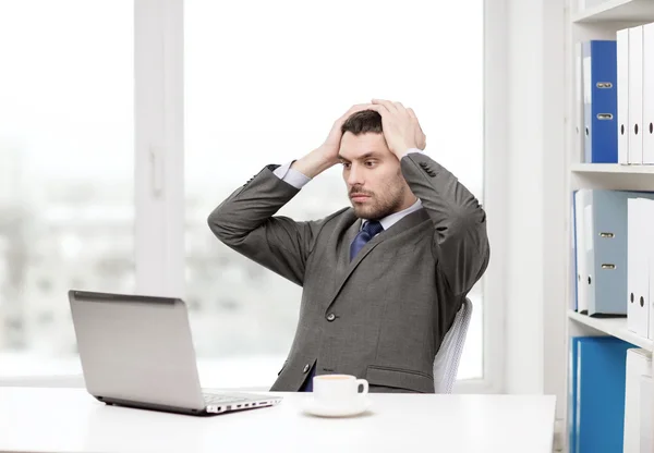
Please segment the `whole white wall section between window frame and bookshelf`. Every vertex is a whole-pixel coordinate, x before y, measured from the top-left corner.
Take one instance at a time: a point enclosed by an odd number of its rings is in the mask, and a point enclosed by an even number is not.
[[[505,391],[565,402],[564,0],[507,0]],[[558,418],[558,417],[557,417]]]

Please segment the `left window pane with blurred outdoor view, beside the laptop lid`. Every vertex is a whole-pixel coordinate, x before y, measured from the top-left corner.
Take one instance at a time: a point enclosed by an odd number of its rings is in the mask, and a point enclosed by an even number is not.
[[[133,5],[0,2],[0,376],[78,372],[68,290],[135,284]]]

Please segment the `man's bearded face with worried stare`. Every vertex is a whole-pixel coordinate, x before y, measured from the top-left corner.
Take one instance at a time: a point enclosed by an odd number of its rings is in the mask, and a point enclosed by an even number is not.
[[[356,217],[382,219],[404,209],[409,186],[384,134],[346,132],[339,158]]]

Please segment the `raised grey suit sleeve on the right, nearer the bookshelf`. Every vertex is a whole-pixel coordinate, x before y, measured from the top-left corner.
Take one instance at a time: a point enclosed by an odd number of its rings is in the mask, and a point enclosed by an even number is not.
[[[427,155],[404,155],[401,169],[434,224],[432,250],[438,272],[455,296],[467,294],[488,266],[484,209],[452,173]]]

